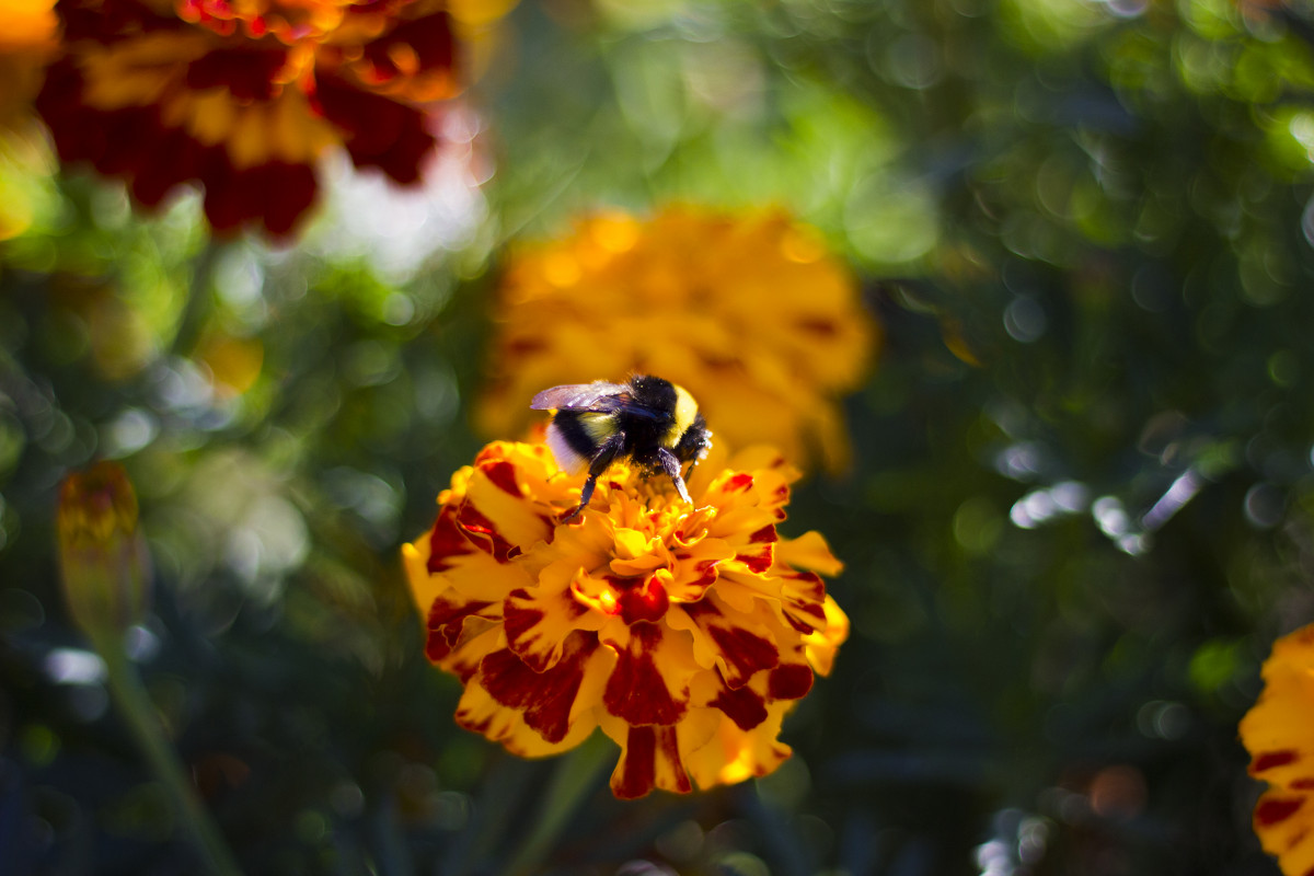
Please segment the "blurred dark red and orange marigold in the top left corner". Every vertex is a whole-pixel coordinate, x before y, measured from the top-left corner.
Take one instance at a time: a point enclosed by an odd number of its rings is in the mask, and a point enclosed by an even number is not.
[[[63,160],[124,176],[142,204],[200,181],[215,230],[285,235],[331,146],[419,180],[424,104],[456,91],[451,5],[59,0],[64,56],[37,108]]]

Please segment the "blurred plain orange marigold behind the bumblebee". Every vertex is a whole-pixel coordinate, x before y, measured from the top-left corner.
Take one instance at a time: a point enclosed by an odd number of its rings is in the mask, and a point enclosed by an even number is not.
[[[836,399],[859,383],[878,332],[845,267],[778,210],[595,215],[515,252],[501,294],[478,410],[489,435],[520,428],[544,386],[629,370],[689,389],[717,441],[848,462]]]

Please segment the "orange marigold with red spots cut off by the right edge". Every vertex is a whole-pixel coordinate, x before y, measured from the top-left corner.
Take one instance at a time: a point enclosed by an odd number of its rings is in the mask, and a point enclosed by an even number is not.
[[[1269,784],[1255,833],[1288,876],[1314,871],[1314,624],[1273,642],[1264,691],[1240,722],[1250,775]]]

